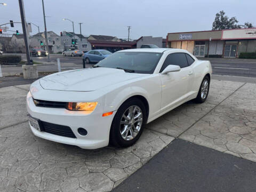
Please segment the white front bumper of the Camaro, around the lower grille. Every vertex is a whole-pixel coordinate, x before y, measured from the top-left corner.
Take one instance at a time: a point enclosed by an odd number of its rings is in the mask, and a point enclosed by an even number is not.
[[[97,149],[108,145],[110,126],[116,112],[113,115],[102,117],[100,105],[91,114],[88,114],[86,111],[37,107],[33,102],[30,92],[27,94],[27,110],[32,117],[41,121],[69,126],[76,136],[76,138],[68,138],[41,132],[29,124],[31,131],[37,137],[78,146],[83,149]],[[79,127],[84,128],[87,131],[87,135],[80,135],[77,131]]]

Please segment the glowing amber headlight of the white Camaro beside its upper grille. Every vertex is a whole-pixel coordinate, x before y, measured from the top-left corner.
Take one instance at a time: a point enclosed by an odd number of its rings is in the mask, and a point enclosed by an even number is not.
[[[68,102],[67,109],[73,111],[93,111],[98,102]]]

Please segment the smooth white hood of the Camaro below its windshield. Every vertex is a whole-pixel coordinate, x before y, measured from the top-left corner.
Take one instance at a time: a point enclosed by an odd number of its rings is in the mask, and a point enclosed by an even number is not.
[[[43,89],[60,91],[95,91],[147,74],[125,73],[122,69],[86,68],[64,71],[39,80]]]

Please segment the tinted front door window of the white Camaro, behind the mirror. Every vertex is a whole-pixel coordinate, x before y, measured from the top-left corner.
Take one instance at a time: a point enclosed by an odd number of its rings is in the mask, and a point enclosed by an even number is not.
[[[185,53],[172,53],[168,55],[163,63],[160,73],[169,65],[178,65],[180,68],[188,67]]]

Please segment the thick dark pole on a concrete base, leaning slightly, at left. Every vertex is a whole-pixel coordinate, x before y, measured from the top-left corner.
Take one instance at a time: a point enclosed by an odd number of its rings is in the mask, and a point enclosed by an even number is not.
[[[28,36],[27,36],[27,26],[26,26],[26,19],[25,19],[23,0],[19,0],[19,5],[20,5],[20,17],[21,17],[22,30],[23,30],[24,42],[25,42],[25,47],[26,47],[26,55],[27,55],[27,63],[26,63],[26,65],[33,65],[32,63],[30,63],[30,55],[29,55],[29,47],[28,47]]]

